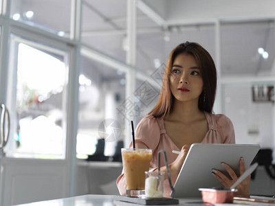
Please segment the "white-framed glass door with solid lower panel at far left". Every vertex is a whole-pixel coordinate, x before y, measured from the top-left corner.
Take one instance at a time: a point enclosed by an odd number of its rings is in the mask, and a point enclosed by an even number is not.
[[[24,36],[10,34],[6,105],[12,121],[2,156],[2,205],[67,197],[74,185],[73,135],[67,135],[74,47]]]

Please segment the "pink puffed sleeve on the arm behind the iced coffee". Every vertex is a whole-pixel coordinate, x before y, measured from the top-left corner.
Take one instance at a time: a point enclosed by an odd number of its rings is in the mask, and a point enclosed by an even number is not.
[[[135,130],[135,148],[148,148],[153,150],[159,144],[159,125],[157,124],[157,120],[152,115],[146,115],[142,118],[137,124],[137,128]],[[132,143],[130,144],[129,148],[132,148]],[[126,195],[126,188],[125,188],[125,179],[124,179],[124,172],[122,170],[122,174],[118,176],[116,181],[118,186],[118,191],[120,195]]]

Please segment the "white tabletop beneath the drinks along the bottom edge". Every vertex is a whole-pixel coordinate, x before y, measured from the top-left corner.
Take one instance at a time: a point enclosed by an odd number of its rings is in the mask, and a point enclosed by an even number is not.
[[[41,201],[36,203],[23,204],[21,206],[126,206],[126,205],[138,205],[133,203],[126,203],[122,201],[113,201],[113,195],[98,195],[98,194],[87,194],[83,196],[75,196],[71,198],[61,198],[51,201]],[[201,198],[179,198],[179,205],[184,205],[184,203],[201,201]]]

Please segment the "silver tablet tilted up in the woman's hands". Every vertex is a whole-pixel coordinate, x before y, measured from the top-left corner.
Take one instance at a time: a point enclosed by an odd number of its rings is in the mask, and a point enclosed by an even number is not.
[[[228,163],[239,176],[240,158],[248,169],[259,149],[254,144],[192,144],[177,176],[174,197],[199,197],[199,188],[223,187],[211,174],[212,168],[225,172],[221,162]]]

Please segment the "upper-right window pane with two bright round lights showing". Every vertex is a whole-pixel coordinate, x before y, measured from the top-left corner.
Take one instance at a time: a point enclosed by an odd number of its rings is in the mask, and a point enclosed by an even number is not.
[[[221,75],[270,76],[275,53],[274,35],[273,20],[222,23]],[[259,49],[268,55],[259,54]]]

